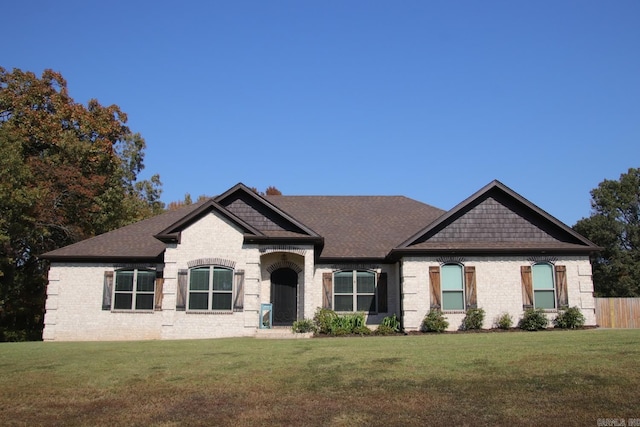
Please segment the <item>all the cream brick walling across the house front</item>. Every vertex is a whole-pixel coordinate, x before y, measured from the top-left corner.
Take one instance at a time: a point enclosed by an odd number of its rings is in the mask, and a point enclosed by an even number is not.
[[[298,274],[298,318],[312,318],[322,306],[322,275],[341,269],[371,269],[387,273],[388,313],[370,315],[367,324],[375,326],[383,317],[404,316],[407,330],[418,330],[429,311],[429,267],[440,265],[435,257],[407,257],[396,264],[315,265],[314,249],[299,247],[261,248],[243,243],[241,229],[212,212],[182,231],[179,244],[168,244],[164,265],[162,310],[153,312],[112,312],[102,310],[105,271],[118,266],[109,263],[53,262],[47,288],[45,340],[140,340],[217,338],[253,336],[259,325],[261,303],[270,301],[270,266],[277,266],[286,254]],[[176,310],[178,271],[189,262],[217,258],[244,270],[244,310],[225,313],[190,313]],[[595,302],[591,265],[588,257],[558,257],[556,265],[567,267],[570,306],[578,306],[587,325],[595,325]],[[476,267],[478,307],[486,311],[485,328],[497,316],[509,313],[514,324],[521,318],[522,287],[520,267],[530,265],[526,256],[466,257],[464,265]],[[402,276],[402,278],[400,277]],[[399,282],[402,280],[402,295]],[[403,313],[400,313],[402,298]],[[445,313],[450,329],[460,326],[464,313]],[[551,319],[555,313],[548,316]]]

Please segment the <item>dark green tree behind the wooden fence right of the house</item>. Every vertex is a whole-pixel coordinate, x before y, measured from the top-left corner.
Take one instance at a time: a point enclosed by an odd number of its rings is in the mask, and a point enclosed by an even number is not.
[[[593,260],[596,294],[640,296],[640,169],[602,181],[591,197],[591,216],[574,229],[603,247]]]

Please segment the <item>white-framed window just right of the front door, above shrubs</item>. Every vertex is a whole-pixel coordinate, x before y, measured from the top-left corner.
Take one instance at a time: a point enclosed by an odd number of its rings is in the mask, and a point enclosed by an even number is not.
[[[335,311],[376,312],[376,275],[373,272],[335,273],[333,293]]]

